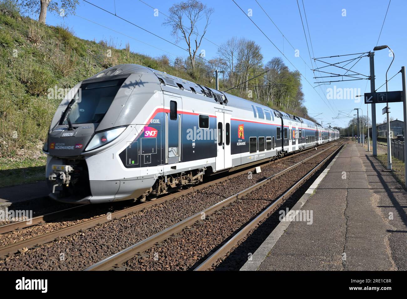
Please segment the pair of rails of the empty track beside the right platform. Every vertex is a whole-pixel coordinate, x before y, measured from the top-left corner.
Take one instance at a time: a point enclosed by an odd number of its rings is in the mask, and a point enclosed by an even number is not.
[[[163,240],[166,240],[166,239],[170,238],[171,236],[176,236],[177,233],[182,231],[185,227],[189,227],[189,226],[193,225],[194,223],[196,223],[197,221],[204,219],[206,216],[211,215],[216,211],[219,211],[221,208],[230,205],[237,199],[243,198],[247,194],[260,188],[261,186],[264,186],[265,184],[269,183],[270,181],[274,181],[281,175],[284,175],[286,172],[289,172],[289,171],[293,170],[294,168],[297,168],[298,166],[321,155],[322,153],[328,151],[329,149],[331,149],[335,146],[338,146],[338,144],[339,144],[338,148],[335,151],[330,153],[330,155],[328,155],[328,157],[324,158],[323,161],[320,162],[317,166],[315,166],[311,171],[307,172],[307,174],[304,177],[302,177],[302,179],[298,180],[293,186],[291,186],[291,188],[289,188],[289,190],[284,192],[284,194],[282,196],[280,196],[276,201],[274,201],[265,210],[263,210],[263,212],[261,212],[256,218],[254,218],[247,226],[243,227],[237,234],[235,234],[232,238],[230,238],[230,240],[228,240],[228,242],[223,244],[223,246],[221,248],[219,248],[213,255],[208,257],[202,264],[200,264],[196,268],[196,270],[206,270],[210,266],[212,266],[212,264],[214,262],[216,262],[219,259],[219,257],[222,257],[225,253],[227,253],[228,250],[230,250],[230,248],[232,248],[239,240],[241,240],[241,238],[243,238],[247,234],[247,232],[250,231],[250,229],[252,229],[259,221],[264,219],[271,210],[273,210],[277,205],[279,205],[284,200],[284,198],[287,198],[300,184],[302,184],[306,179],[308,179],[311,175],[313,175],[313,173],[320,166],[322,166],[328,159],[330,159],[330,157],[335,155],[335,153],[337,153],[339,151],[339,149],[341,148],[341,146],[343,146],[344,143],[345,143],[344,140],[341,140],[337,144],[334,144],[334,145],[324,149],[323,151],[321,151],[315,155],[312,155],[311,157],[307,157],[306,159],[304,159],[270,177],[267,177],[266,179],[263,179],[262,181],[254,184],[253,186],[246,188],[245,190],[242,190],[242,191],[228,197],[227,199],[223,199],[222,201],[202,210],[201,212],[194,214],[193,216],[190,216],[190,217],[180,221],[179,223],[176,223],[175,225],[172,225],[171,227],[168,227],[167,229],[164,229],[164,230],[158,232],[157,234],[154,234],[140,242],[137,242],[136,244],[131,245],[130,247],[127,247],[126,249],[124,249],[122,251],[115,253],[114,255],[109,256],[108,258],[105,258],[104,260],[101,260],[100,262],[93,264],[92,266],[86,268],[85,271],[103,271],[103,270],[112,270],[115,268],[121,268],[123,263],[129,261],[136,255],[140,255],[140,253],[142,253],[143,251],[146,251],[147,249],[150,249],[155,244],[160,244],[160,242],[162,242]],[[247,172],[247,170],[245,172]],[[204,218],[202,218],[202,217],[204,217]]]

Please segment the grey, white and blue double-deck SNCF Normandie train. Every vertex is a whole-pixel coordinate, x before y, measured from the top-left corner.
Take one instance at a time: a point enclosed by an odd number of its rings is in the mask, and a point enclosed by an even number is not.
[[[70,90],[43,152],[50,198],[85,204],[145,201],[338,138],[311,120],[122,64]]]

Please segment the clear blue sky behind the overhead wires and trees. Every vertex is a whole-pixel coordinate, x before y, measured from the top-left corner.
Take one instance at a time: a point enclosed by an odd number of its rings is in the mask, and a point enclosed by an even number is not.
[[[90,2],[111,11],[114,13],[115,6],[114,0],[89,0]],[[168,8],[173,3],[178,1],[158,1],[158,0],[143,0],[152,7],[158,9],[158,16],[154,16],[152,8],[139,0],[116,0],[116,14],[123,17],[134,24],[137,24],[157,35],[160,35],[170,41],[174,41],[170,35],[170,28],[162,26],[165,16],[160,13],[168,14]],[[273,57],[282,57],[290,70],[297,68],[311,83],[314,84],[313,73],[310,70],[311,61],[306,45],[304,31],[300,19],[300,13],[296,0],[285,1],[267,1],[257,0],[258,3],[265,9],[269,17],[276,23],[278,28],[285,36],[283,39],[278,29],[271,23],[267,15],[258,6],[255,0],[235,0],[237,4],[244,10],[252,9],[251,19],[263,30],[263,32],[273,41],[273,43],[283,51],[283,57],[276,47],[250,22],[249,18],[242,13],[239,7],[234,4],[232,0],[202,0],[208,7],[213,7],[215,12],[212,15],[212,20],[208,31],[205,35],[207,39],[214,44],[221,45],[232,36],[246,37],[256,41],[262,48],[264,56],[264,63],[267,63]],[[304,11],[302,8],[302,1],[299,0],[300,9],[303,17],[305,31],[308,35]],[[367,52],[376,46],[379,33],[383,24],[383,19],[387,10],[388,0],[304,0],[306,17],[308,20],[309,31],[311,35],[311,42],[315,57],[326,57],[332,55],[344,55],[359,52]],[[343,16],[343,9],[346,9],[346,16]],[[405,32],[402,31],[404,24],[405,11],[407,9],[407,1],[405,0],[392,0],[389,6],[389,11],[383,26],[383,31],[379,40],[379,45],[389,45],[395,52],[395,59],[392,67],[389,70],[388,78],[392,77],[402,65],[407,65],[406,48],[407,39]],[[139,52],[150,55],[152,57],[167,54],[170,57],[183,56],[186,57],[187,52],[183,51],[176,46],[169,44],[158,37],[155,37],[141,29],[118,19],[114,15],[110,15],[92,5],[81,1],[77,8],[77,15],[70,15],[64,19],[52,13],[48,13],[47,24],[58,25],[65,24],[73,29],[74,33],[83,38],[99,41],[101,39],[109,39],[114,37],[117,39],[118,44],[124,45],[127,41],[130,43],[131,51]],[[79,17],[80,16],[80,17]],[[90,21],[96,22],[103,26],[114,29],[109,30]],[[131,36],[131,39],[125,35]],[[289,46],[287,40],[293,45],[295,49],[299,50],[300,57],[295,57],[295,50]],[[148,46],[150,44],[156,48]],[[206,59],[211,59],[217,55],[217,46],[209,41],[202,41],[201,49],[205,50]],[[183,46],[182,41],[179,46]],[[313,57],[311,44],[309,41],[311,57]],[[159,48],[159,49],[157,49]],[[164,52],[167,51],[167,52]],[[170,54],[168,54],[171,53]],[[288,61],[291,61],[293,65]],[[304,61],[309,65],[306,65]],[[346,60],[348,57],[335,57],[327,60],[330,63],[336,63],[341,60]],[[375,72],[376,72],[376,88],[385,82],[385,72],[392,61],[389,57],[388,50],[381,50],[375,52]],[[350,67],[353,63],[348,65]],[[324,63],[318,62],[318,66],[323,66]],[[346,68],[347,68],[346,67]],[[355,72],[369,75],[369,59],[363,57],[357,65],[352,68]],[[343,74],[344,70],[338,68],[326,68],[327,72],[334,72]],[[327,74],[328,75],[328,74]],[[321,74],[322,76],[322,74]],[[327,78],[329,79],[329,78]],[[346,79],[346,78],[344,78]],[[352,78],[348,78],[352,79]],[[337,80],[337,79],[331,79]],[[340,80],[340,79],[339,79]],[[322,81],[322,79],[319,79]],[[328,81],[328,80],[326,80]],[[367,84],[366,84],[367,83]],[[338,110],[346,111],[351,115],[354,112],[350,109],[362,108],[363,114],[366,113],[366,105],[362,103],[355,103],[354,99],[327,99],[328,88],[356,88],[360,89],[361,93],[370,92],[370,81],[348,81],[336,82],[330,85],[321,85],[315,89],[302,78],[303,92],[305,95],[305,105],[311,115],[316,113],[323,113],[323,124],[331,122],[332,125],[340,127],[346,126],[349,119],[332,119],[337,116]],[[367,87],[366,87],[367,86]],[[401,90],[401,74],[398,74],[394,79],[389,81],[389,91]],[[385,86],[381,87],[379,91],[385,91]],[[322,97],[322,98],[321,98]],[[359,100],[359,99],[357,99]],[[402,103],[391,103],[390,116],[393,118],[403,119],[403,105]],[[383,104],[376,105],[376,119],[377,123],[383,122],[385,116],[382,115]],[[369,107],[370,110],[370,107]],[[369,111],[369,115],[370,115]]]

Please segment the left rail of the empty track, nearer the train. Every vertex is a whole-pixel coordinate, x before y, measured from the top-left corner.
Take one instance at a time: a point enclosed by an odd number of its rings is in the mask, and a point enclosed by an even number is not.
[[[193,216],[190,216],[190,217],[180,221],[179,223],[176,223],[175,225],[172,225],[171,227],[168,227],[168,228],[158,232],[157,234],[154,234],[140,242],[137,242],[136,244],[131,245],[130,247],[127,247],[126,249],[123,249],[122,251],[115,253],[114,255],[111,255],[99,262],[96,262],[95,264],[89,266],[88,268],[85,268],[84,271],[111,270],[115,267],[115,265],[123,264],[127,260],[133,258],[134,255],[136,255],[136,253],[145,251],[145,250],[151,248],[155,243],[166,240],[171,235],[176,234],[177,232],[181,231],[182,229],[184,229],[184,227],[193,225],[197,220],[201,219],[202,215],[212,214],[213,212],[221,209],[222,207],[229,205],[236,199],[240,199],[241,197],[249,194],[250,192],[259,188],[260,186],[263,186],[264,184],[268,183],[269,181],[272,181],[272,180],[280,177],[284,173],[292,170],[293,168],[300,166],[301,164],[304,164],[306,161],[308,161],[312,158],[317,157],[318,155],[324,153],[325,151],[327,151],[328,149],[330,149],[334,146],[337,146],[337,144],[334,144],[334,145],[324,149],[323,151],[321,151],[315,155],[312,155],[311,157],[308,157],[308,158],[302,160],[301,162],[298,162],[298,163],[272,175],[271,177],[268,177],[256,184],[254,184],[253,186],[246,188],[245,190],[228,197],[227,199],[223,199],[222,201],[206,208],[205,210],[203,210],[201,212],[194,214]]]

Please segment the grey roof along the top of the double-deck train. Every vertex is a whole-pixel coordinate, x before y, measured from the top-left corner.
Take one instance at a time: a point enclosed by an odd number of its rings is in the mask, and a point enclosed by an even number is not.
[[[300,123],[306,123],[309,126],[317,126],[317,127],[323,128],[321,124],[318,124],[311,120],[307,120],[306,118],[301,118],[299,116],[295,116],[290,113],[279,111],[279,110],[270,108],[268,106],[261,105],[256,102],[252,102],[250,100],[246,100],[244,98],[240,98],[238,96],[228,94],[226,92],[221,92],[219,90],[216,90],[216,89],[204,86],[204,85],[200,85],[195,82],[191,82],[191,81],[188,81],[188,80],[176,77],[176,76],[172,76],[170,74],[167,74],[166,72],[161,72],[158,70],[154,70],[152,68],[148,68],[143,65],[138,65],[138,64],[116,65],[112,68],[108,68],[106,70],[98,72],[97,74],[90,77],[89,79],[96,79],[96,78],[100,78],[100,77],[113,76],[113,75],[119,75],[119,74],[124,75],[124,74],[135,74],[135,73],[143,73],[143,72],[155,74],[155,76],[157,76],[158,81],[159,81],[157,83],[160,83],[162,86],[169,85],[172,88],[177,88],[177,89],[192,92],[192,94],[190,96],[195,97],[200,100],[215,101],[221,105],[238,107],[241,109],[246,109],[247,111],[252,111],[252,105],[258,106],[258,107],[262,107],[263,109],[266,109],[268,111],[271,111],[272,113],[274,113],[274,116],[276,116],[278,118],[289,119],[289,120],[293,120],[293,121],[300,122]],[[328,129],[328,127],[325,127],[325,128]],[[329,127],[329,129],[336,130],[336,129],[333,129],[330,127]]]

